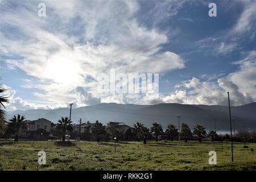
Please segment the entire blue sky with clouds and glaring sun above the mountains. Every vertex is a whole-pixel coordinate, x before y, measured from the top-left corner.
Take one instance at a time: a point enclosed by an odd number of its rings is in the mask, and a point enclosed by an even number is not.
[[[217,5],[210,17],[209,3]],[[39,3],[46,16],[39,16]],[[7,110],[256,101],[255,1],[0,1]],[[159,97],[99,93],[110,69],[159,73]],[[117,81],[118,82],[118,81]]]

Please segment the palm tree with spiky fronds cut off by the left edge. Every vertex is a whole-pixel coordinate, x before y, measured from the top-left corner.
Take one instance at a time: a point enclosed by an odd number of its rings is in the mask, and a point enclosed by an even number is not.
[[[2,96],[2,93],[4,93],[7,89],[6,88],[3,88],[2,86],[0,87],[0,93],[1,93],[1,96],[0,96],[0,136],[3,135],[3,133],[5,132],[5,129],[6,129],[6,112],[4,110],[2,110],[2,106],[3,108],[5,108],[5,103],[8,102],[8,99],[7,97],[5,96]]]

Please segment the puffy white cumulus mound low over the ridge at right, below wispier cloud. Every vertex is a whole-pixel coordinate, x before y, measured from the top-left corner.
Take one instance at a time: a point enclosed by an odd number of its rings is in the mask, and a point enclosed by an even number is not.
[[[169,96],[162,97],[158,102],[177,102],[180,104],[204,104],[204,105],[228,105],[227,93],[230,93],[230,100],[232,105],[243,105],[253,102],[253,98],[248,94],[239,92],[238,86],[232,81],[228,81],[225,78],[218,79],[216,82],[200,82],[197,78],[192,78],[188,81],[188,85],[191,82],[196,85],[188,88],[184,85],[184,90],[176,90],[175,93]]]

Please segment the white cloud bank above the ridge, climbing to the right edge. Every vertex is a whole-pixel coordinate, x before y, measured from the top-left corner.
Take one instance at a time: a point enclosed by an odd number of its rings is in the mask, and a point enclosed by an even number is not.
[[[168,96],[158,100],[148,101],[150,104],[160,102],[178,102],[180,104],[228,105],[227,92],[233,106],[248,104],[256,101],[256,51],[247,52],[245,58],[235,61],[240,65],[239,70],[216,81],[203,81],[193,77],[182,84]]]

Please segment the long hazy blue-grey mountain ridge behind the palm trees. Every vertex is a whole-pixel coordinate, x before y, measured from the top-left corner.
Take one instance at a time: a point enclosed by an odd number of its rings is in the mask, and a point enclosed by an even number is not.
[[[231,107],[232,118],[235,119],[235,127],[238,129],[256,128],[256,102]],[[57,122],[60,117],[69,117],[69,108],[53,110],[34,109],[16,110],[8,113],[8,118],[22,114],[26,119],[34,120],[46,118]],[[177,115],[181,115],[180,123],[188,123],[190,127],[196,124],[204,125],[208,130],[214,129],[214,118],[217,119],[217,130],[229,129],[229,110],[227,106],[216,105],[185,105],[185,104],[157,104],[134,105],[102,103],[93,106],[78,107],[72,109],[72,121],[77,123],[99,120],[106,124],[109,121],[124,122],[133,126],[136,122],[142,122],[150,127],[153,122],[162,123],[165,128],[169,123],[178,125]]]

